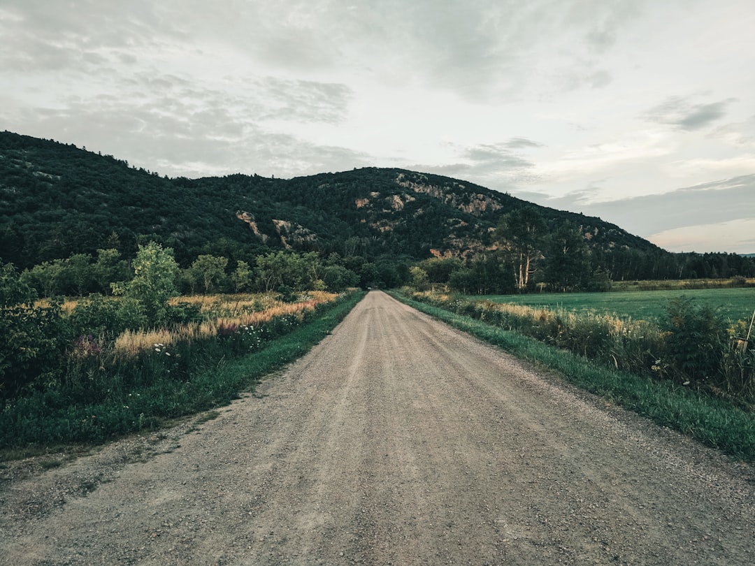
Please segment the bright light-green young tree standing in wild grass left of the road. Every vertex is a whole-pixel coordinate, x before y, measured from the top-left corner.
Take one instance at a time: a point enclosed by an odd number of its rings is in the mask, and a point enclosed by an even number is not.
[[[153,325],[168,318],[168,299],[177,295],[178,264],[171,248],[155,241],[140,245],[133,262],[134,278],[112,284],[112,292],[136,299]]]

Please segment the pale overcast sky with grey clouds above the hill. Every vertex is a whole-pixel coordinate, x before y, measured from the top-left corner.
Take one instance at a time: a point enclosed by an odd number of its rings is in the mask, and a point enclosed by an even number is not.
[[[755,253],[753,0],[0,0],[0,129],[169,177],[448,175]]]

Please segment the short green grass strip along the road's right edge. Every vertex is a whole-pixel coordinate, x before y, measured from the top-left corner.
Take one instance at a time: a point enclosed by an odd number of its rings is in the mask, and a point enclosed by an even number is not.
[[[668,381],[657,381],[590,364],[585,358],[556,349],[513,331],[457,315],[392,293],[393,297],[448,325],[520,358],[558,371],[562,377],[655,423],[676,429],[738,460],[755,462],[755,415],[729,402]]]

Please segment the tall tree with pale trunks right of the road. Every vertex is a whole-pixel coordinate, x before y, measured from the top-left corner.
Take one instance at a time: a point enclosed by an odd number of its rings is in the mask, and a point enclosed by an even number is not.
[[[545,220],[535,208],[504,214],[495,229],[496,241],[515,266],[516,287],[520,290],[529,286],[531,275],[537,271],[545,230]]]

